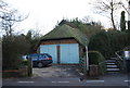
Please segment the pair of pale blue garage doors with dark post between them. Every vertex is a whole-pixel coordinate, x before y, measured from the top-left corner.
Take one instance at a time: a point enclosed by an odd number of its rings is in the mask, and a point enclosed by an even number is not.
[[[41,45],[40,53],[49,53],[50,55],[52,55],[54,64],[79,63],[78,43]]]

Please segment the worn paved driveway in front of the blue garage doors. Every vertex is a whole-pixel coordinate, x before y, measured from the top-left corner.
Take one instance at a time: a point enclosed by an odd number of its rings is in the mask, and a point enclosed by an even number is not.
[[[48,67],[34,67],[34,76],[40,77],[79,77],[79,70],[76,65],[51,65]]]

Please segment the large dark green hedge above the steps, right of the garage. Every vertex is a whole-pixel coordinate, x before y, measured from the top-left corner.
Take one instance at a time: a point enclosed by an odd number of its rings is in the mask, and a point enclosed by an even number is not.
[[[106,59],[115,56],[115,52],[128,46],[128,34],[119,30],[102,30],[91,37],[89,50],[101,52]]]

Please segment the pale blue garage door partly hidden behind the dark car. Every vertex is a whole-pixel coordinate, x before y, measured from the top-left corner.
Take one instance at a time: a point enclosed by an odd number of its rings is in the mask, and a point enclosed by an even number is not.
[[[40,53],[49,53],[53,63],[57,63],[56,45],[40,46]]]

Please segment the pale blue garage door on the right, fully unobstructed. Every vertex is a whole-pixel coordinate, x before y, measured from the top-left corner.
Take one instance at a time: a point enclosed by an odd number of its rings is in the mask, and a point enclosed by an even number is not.
[[[61,45],[61,63],[79,63],[78,43]]]

